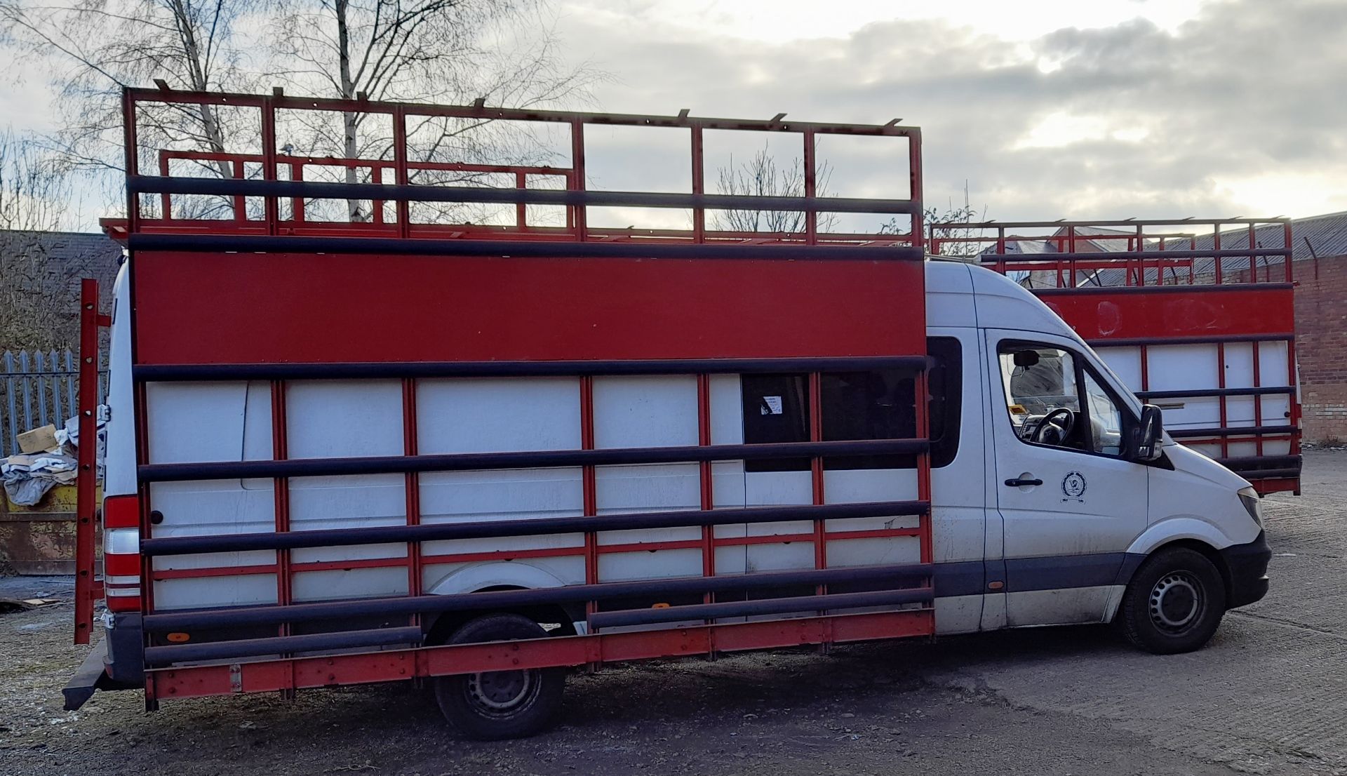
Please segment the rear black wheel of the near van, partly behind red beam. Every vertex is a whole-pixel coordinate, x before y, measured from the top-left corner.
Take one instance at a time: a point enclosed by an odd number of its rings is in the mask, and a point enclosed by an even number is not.
[[[449,644],[541,639],[547,630],[519,614],[488,614],[466,622]],[[461,674],[435,679],[439,710],[465,736],[481,741],[524,738],[556,719],[566,690],[564,668]]]

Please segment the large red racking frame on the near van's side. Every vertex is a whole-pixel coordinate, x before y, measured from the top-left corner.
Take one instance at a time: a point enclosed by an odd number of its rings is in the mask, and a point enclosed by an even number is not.
[[[158,152],[158,175],[140,172],[139,110],[159,105],[228,105],[255,109],[261,154]],[[392,159],[330,159],[277,154],[279,110],[358,112],[392,121]],[[132,253],[133,389],[139,473],[141,614],[147,633],[145,698],[405,680],[501,668],[595,666],[680,655],[714,655],[796,644],[933,633],[931,485],[927,418],[916,412],[912,439],[827,441],[823,438],[819,385],[826,372],[904,369],[913,376],[915,406],[925,407],[925,318],[921,229],[920,131],[858,124],[812,124],[678,116],[606,115],[415,105],[368,100],[314,100],[128,89],[124,93],[128,218],[106,221]],[[408,159],[408,117],[544,121],[570,128],[567,167],[481,166]],[[594,191],[585,172],[585,127],[678,127],[688,131],[691,193]],[[707,194],[703,132],[735,129],[793,133],[801,139],[803,197]],[[907,197],[859,199],[818,197],[815,139],[819,135],[867,135],[907,141]],[[171,176],[170,162],[222,162],[233,178]],[[260,164],[260,179],[245,179]],[[311,164],[358,167],[370,183],[304,181]],[[288,181],[280,171],[288,171]],[[512,189],[418,186],[416,170],[458,170],[511,175]],[[391,183],[384,181],[392,178]],[[529,189],[532,176],[555,176],[564,190]],[[232,202],[232,218],[175,216],[174,197],[206,194]],[[248,199],[260,198],[257,213]],[[308,198],[366,199],[368,222],[307,220]],[[158,199],[158,214],[145,202]],[[256,199],[255,199],[256,201]],[[287,201],[288,218],[282,217]],[[396,203],[385,218],[384,202]],[[513,203],[515,224],[420,224],[414,202]],[[564,226],[528,222],[528,205],[566,209]],[[599,229],[587,224],[587,207],[679,207],[691,210],[692,229]],[[801,233],[765,234],[707,229],[706,210],[764,209],[806,213]],[[902,234],[820,233],[819,213],[873,213],[911,217]],[[372,280],[364,268],[377,267]],[[366,321],[337,310],[339,299],[376,286],[373,304],[381,331],[432,327],[461,331],[455,338],[388,340],[361,333]],[[504,291],[502,291],[504,290]],[[287,304],[268,306],[277,291]],[[752,291],[752,292],[749,292]],[[457,295],[455,295],[457,294]],[[380,303],[380,299],[397,303]],[[618,302],[614,302],[618,300]],[[621,300],[626,299],[628,303]],[[203,303],[209,302],[209,303]],[[789,310],[781,315],[781,310]],[[505,313],[502,314],[501,310]],[[539,313],[541,310],[541,313]],[[766,338],[761,326],[770,323]],[[405,329],[404,329],[405,330]],[[475,331],[469,335],[469,331]],[[595,333],[597,331],[597,333]],[[633,331],[637,335],[633,335]],[[808,375],[810,441],[788,445],[715,445],[711,441],[710,377],[717,373],[803,372]],[[416,395],[426,377],[570,376],[578,380],[582,442],[578,450],[427,455],[418,449]],[[696,379],[695,447],[597,449],[594,380],[606,375],[692,375]],[[292,459],[287,445],[287,387],[310,379],[397,379],[403,397],[403,454],[381,458]],[[267,380],[271,385],[272,459],[232,463],[156,463],[148,450],[147,384],[175,380]],[[916,459],[917,500],[828,504],[823,461],[830,455],[911,454]],[[711,492],[711,462],[753,458],[810,458],[812,503],[799,507],[718,508]],[[700,476],[699,511],[598,516],[598,466],[640,462],[695,462]],[[583,508],[575,517],[467,524],[423,524],[419,476],[436,470],[575,466],[582,473]],[[397,472],[404,476],[405,523],[389,528],[290,529],[288,482],[292,477]],[[151,484],[180,480],[268,477],[275,482],[275,527],[267,534],[156,538],[151,521]],[[90,494],[92,496],[92,494]],[[89,501],[82,501],[88,504]],[[917,525],[863,531],[830,529],[827,520],[911,515]],[[808,532],[765,536],[717,536],[717,524],[812,520]],[[698,539],[599,544],[601,531],[633,527],[699,525]],[[583,544],[539,550],[501,550],[427,555],[431,539],[521,536],[582,532]],[[827,543],[849,539],[916,538],[916,563],[836,569],[827,564]],[[405,542],[405,556],[292,562],[299,547]],[[812,570],[717,575],[715,548],[756,543],[811,542]],[[156,569],[171,555],[240,548],[273,550],[273,563],[191,570]],[[648,582],[603,582],[603,554],[633,550],[699,548],[702,577]],[[423,569],[434,563],[579,555],[585,585],[572,589],[512,590],[463,595],[427,595]],[[313,570],[405,566],[408,595],[337,602],[295,601],[296,574]],[[275,606],[162,612],[154,585],[176,578],[275,575]],[[810,585],[814,595],[772,595],[773,589]],[[846,591],[857,585],[861,591]],[[836,591],[830,593],[830,586]],[[682,590],[700,594],[700,605],[668,610],[609,610],[617,595]],[[718,593],[757,590],[765,595],[718,600]],[[496,597],[496,598],[493,598]],[[589,632],[531,641],[423,645],[428,618],[440,613],[558,601],[583,604]],[[886,610],[846,613],[859,608]],[[721,622],[745,614],[815,612],[765,621]],[[388,614],[385,628],[295,635],[296,622],[330,622],[357,614]],[[637,632],[606,632],[613,624],[659,624],[674,618],[702,625]],[[392,622],[397,621],[396,626]],[[275,636],[202,644],[168,644],[167,632],[190,628],[263,626]],[[381,647],[392,649],[372,651]],[[346,649],[323,657],[296,657],[313,649]],[[275,657],[280,655],[280,657]],[[271,656],[271,657],[265,657]],[[183,666],[206,660],[209,664]]]

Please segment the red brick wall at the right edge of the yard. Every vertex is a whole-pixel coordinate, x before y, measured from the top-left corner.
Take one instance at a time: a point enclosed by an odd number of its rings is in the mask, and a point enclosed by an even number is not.
[[[1296,261],[1294,271],[1304,439],[1347,441],[1347,256]]]

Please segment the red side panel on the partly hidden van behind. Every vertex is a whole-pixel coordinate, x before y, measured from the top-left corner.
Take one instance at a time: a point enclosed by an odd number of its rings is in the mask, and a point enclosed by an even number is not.
[[[1117,292],[1049,292],[1040,299],[1084,340],[1238,337],[1294,330],[1292,288],[1242,284]]]

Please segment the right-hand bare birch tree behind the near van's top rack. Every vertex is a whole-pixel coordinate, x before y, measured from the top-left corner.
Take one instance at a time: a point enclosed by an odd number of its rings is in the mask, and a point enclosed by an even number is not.
[[[583,101],[603,77],[587,65],[568,69],[535,0],[272,0],[272,78],[311,94],[346,100],[469,102],[528,108]],[[387,159],[389,127],[350,112],[341,127],[321,116],[292,117],[287,139],[308,155]],[[407,128],[412,162],[528,163],[547,156],[527,131],[490,120],[416,117]],[[368,179],[366,166],[345,168],[346,182]],[[414,170],[412,182],[453,183],[463,171]],[[366,220],[358,201],[348,218]]]

